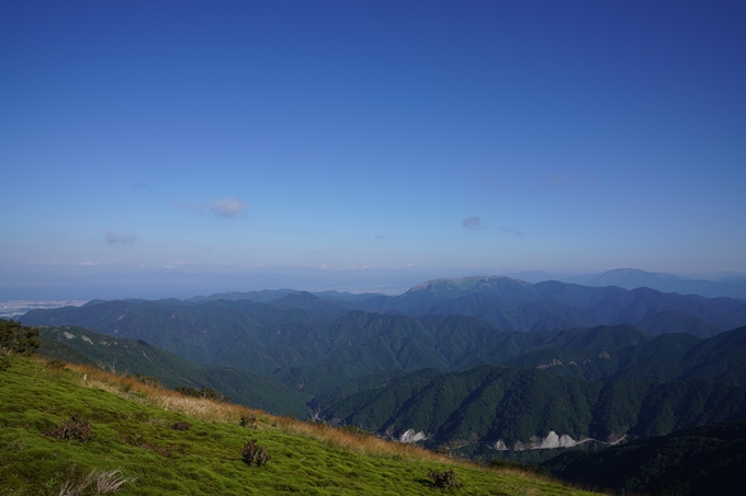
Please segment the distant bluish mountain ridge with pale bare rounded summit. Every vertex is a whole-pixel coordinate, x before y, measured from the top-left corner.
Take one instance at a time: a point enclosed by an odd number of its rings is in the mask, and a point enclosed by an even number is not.
[[[598,324],[633,324],[653,334],[710,337],[746,325],[746,300],[663,293],[649,288],[588,287],[560,281],[535,285],[508,277],[438,279],[398,297],[358,302],[366,310],[408,315],[461,314],[502,331],[546,331]]]

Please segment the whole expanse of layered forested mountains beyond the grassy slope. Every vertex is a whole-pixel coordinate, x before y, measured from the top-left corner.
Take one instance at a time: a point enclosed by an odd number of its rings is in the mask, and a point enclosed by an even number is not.
[[[93,301],[22,321],[54,327],[43,330],[49,356],[116,360],[167,385],[310,408],[381,435],[414,429],[410,440],[421,431],[429,447],[471,454],[746,418],[745,300],[505,277],[433,280],[398,297],[217,297]],[[100,334],[59,328],[70,325]]]

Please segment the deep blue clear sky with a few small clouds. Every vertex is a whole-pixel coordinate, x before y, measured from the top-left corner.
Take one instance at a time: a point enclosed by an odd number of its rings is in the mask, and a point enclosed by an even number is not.
[[[745,26],[743,1],[5,1],[0,268],[743,272]]]

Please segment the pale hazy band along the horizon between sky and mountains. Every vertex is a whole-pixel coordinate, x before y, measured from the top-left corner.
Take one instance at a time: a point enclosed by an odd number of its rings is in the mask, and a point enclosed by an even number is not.
[[[622,268],[622,267],[619,267]],[[626,267],[631,268],[631,267]],[[634,269],[634,268],[633,268]],[[613,270],[613,269],[612,269]],[[263,270],[189,272],[129,270],[69,273],[0,273],[0,300],[44,299],[188,299],[223,292],[248,292],[264,289],[294,289],[301,291],[343,291],[352,293],[380,292],[400,295],[411,287],[431,279],[475,276],[506,276],[535,284],[556,279],[565,282],[585,284],[585,278],[599,276],[607,270],[523,270],[510,272],[499,268],[427,268],[408,267],[393,269],[319,269],[297,267],[268,267]],[[681,279],[727,281],[728,277],[744,278],[746,274],[662,274]]]

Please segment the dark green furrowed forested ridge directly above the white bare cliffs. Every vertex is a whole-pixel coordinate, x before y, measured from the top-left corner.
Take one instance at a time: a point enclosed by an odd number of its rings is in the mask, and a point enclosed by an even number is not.
[[[744,419],[746,389],[704,380],[586,381],[540,369],[482,366],[412,372],[323,413],[380,432],[423,431],[434,445],[502,440],[512,448],[550,431],[576,441],[606,441]]]

